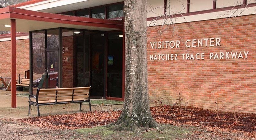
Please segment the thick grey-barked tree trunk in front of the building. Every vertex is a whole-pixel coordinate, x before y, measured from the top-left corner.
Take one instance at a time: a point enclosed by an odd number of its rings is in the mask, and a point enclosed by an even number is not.
[[[110,128],[140,133],[160,127],[148,99],[147,0],[124,0],[125,95],[121,116]]]

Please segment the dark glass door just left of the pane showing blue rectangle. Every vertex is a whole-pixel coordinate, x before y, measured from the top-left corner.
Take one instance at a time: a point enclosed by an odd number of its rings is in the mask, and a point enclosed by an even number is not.
[[[105,88],[105,35],[91,34],[91,96],[104,97]]]

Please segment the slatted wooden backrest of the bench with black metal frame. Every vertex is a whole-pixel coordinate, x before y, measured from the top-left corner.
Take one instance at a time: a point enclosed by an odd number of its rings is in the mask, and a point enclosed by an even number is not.
[[[57,89],[37,89],[36,100],[74,100],[74,99],[88,99],[91,87],[78,87],[78,88],[57,88]]]

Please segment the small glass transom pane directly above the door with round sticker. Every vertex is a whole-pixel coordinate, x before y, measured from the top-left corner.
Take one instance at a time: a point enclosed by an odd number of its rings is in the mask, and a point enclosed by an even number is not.
[[[59,48],[59,30],[47,31],[47,48]]]

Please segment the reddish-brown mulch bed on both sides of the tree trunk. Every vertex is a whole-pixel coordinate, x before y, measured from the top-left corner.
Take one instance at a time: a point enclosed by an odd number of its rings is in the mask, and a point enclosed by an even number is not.
[[[186,107],[186,111],[182,111],[180,117],[180,110],[177,106],[163,105],[151,107],[150,109],[152,116],[158,123],[176,126],[203,126],[210,130],[243,131],[251,136],[256,136],[256,114],[253,113],[239,113],[240,117],[236,122],[233,112],[220,112],[219,118],[217,118],[217,114],[214,110]],[[94,111],[25,118],[19,121],[51,129],[92,128],[115,122],[120,114],[121,111]]]

